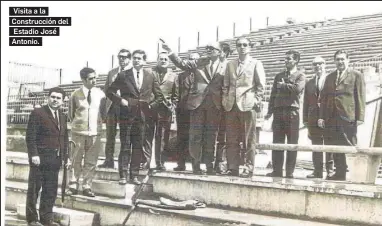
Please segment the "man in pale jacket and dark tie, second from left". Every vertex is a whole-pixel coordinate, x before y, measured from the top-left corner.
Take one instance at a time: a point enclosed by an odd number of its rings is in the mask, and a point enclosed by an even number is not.
[[[97,75],[94,69],[83,68],[80,76],[83,86],[75,90],[69,99],[72,140],[76,143],[70,158],[72,168],[69,191],[77,194],[82,173],[83,195],[94,197],[91,184],[98,161],[102,121],[106,117],[104,106],[106,97],[100,88],[95,87]],[[84,160],[83,166],[82,160]]]

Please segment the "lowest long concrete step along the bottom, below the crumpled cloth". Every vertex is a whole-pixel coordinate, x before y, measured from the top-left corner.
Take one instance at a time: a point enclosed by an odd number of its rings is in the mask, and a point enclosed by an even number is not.
[[[6,181],[7,208],[15,206],[25,200],[26,183]],[[157,197],[150,197],[154,199]],[[146,197],[148,199],[148,197]],[[25,201],[24,201],[25,202]],[[21,205],[16,205],[21,206]],[[111,199],[107,197],[79,197],[72,196],[65,202],[65,208],[75,208],[99,213],[102,226],[121,225],[128,210],[131,208],[130,200]],[[55,210],[57,210],[56,208]],[[94,226],[98,226],[94,224]],[[127,225],[256,225],[256,226],[339,226],[340,223],[321,223],[311,220],[292,219],[280,216],[260,215],[254,211],[238,211],[220,209],[207,206],[196,210],[168,210],[139,205],[131,215]]]

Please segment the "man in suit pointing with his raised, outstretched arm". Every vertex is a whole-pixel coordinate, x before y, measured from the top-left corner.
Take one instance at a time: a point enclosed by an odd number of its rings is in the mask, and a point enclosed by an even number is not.
[[[208,57],[201,57],[197,61],[180,59],[166,43],[162,44],[162,48],[169,52],[175,66],[182,70],[194,70],[187,100],[191,119],[189,151],[193,159],[193,172],[203,174],[200,163],[204,162],[207,174],[215,174],[215,141],[222,110],[221,87],[226,69],[226,64],[219,60],[219,55],[222,54],[220,44],[208,45]]]

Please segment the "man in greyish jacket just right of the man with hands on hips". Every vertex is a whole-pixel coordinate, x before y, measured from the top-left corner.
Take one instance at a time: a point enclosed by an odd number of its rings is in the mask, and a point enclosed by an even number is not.
[[[175,74],[169,68],[170,59],[167,53],[158,55],[158,65],[153,69],[153,74],[159,82],[159,87],[164,96],[164,101],[159,104],[154,111],[154,121],[156,122],[155,132],[155,163],[157,170],[165,170],[163,152],[169,151],[170,128],[172,115],[175,113],[176,103],[178,102],[178,92],[175,89]],[[154,128],[152,128],[152,133]],[[152,140],[152,139],[151,139]]]

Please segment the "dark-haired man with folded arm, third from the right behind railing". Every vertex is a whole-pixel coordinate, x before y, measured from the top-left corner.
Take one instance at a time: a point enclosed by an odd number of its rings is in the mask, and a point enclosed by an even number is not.
[[[290,50],[285,54],[286,70],[278,73],[273,81],[268,113],[265,119],[273,114],[273,143],[297,144],[300,127],[300,98],[305,88],[305,75],[297,69],[300,53]],[[287,151],[286,178],[293,178],[297,152]],[[272,151],[273,171],[267,176],[282,177],[284,151]]]

